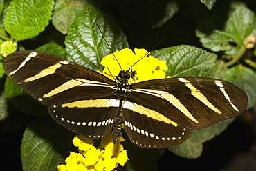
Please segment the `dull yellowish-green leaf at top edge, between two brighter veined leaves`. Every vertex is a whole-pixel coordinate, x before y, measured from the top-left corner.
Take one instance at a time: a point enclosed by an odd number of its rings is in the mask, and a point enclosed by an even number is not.
[[[62,34],[66,34],[71,23],[83,7],[84,1],[82,0],[56,1],[52,19],[53,26]]]

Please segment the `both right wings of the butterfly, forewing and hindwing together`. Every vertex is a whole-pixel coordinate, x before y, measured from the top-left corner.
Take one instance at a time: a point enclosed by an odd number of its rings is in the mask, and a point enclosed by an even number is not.
[[[246,93],[227,81],[172,78],[131,85],[122,110],[131,141],[154,148],[180,144],[190,130],[236,117],[247,103]]]

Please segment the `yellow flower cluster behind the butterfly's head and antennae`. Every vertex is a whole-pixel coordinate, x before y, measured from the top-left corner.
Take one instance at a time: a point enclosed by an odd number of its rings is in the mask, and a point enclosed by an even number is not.
[[[145,49],[134,49],[133,52],[131,49],[125,48],[116,51],[113,54],[105,56],[101,64],[105,67],[102,74],[110,79],[116,78],[121,70],[129,70],[132,66],[129,72],[135,71],[135,79],[131,77],[129,83],[138,83],[150,79],[164,79],[164,70],[167,70],[166,61],[160,61],[157,58],[149,56],[149,52]]]

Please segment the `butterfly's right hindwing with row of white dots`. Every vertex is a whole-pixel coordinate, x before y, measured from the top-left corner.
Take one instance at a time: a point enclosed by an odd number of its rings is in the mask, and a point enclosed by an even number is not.
[[[138,108],[136,104],[130,105]],[[125,131],[132,143],[143,148],[164,148],[189,139],[191,131],[180,123],[165,123],[163,118],[148,117],[149,111],[143,112],[144,114],[140,114],[127,108],[123,109]]]

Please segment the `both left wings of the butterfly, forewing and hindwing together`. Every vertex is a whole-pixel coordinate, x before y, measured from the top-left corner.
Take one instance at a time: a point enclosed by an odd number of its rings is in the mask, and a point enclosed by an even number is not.
[[[51,54],[19,51],[3,61],[8,77],[48,106],[53,119],[86,137],[109,132],[118,112],[115,81]],[[108,110],[107,110],[108,108]]]

